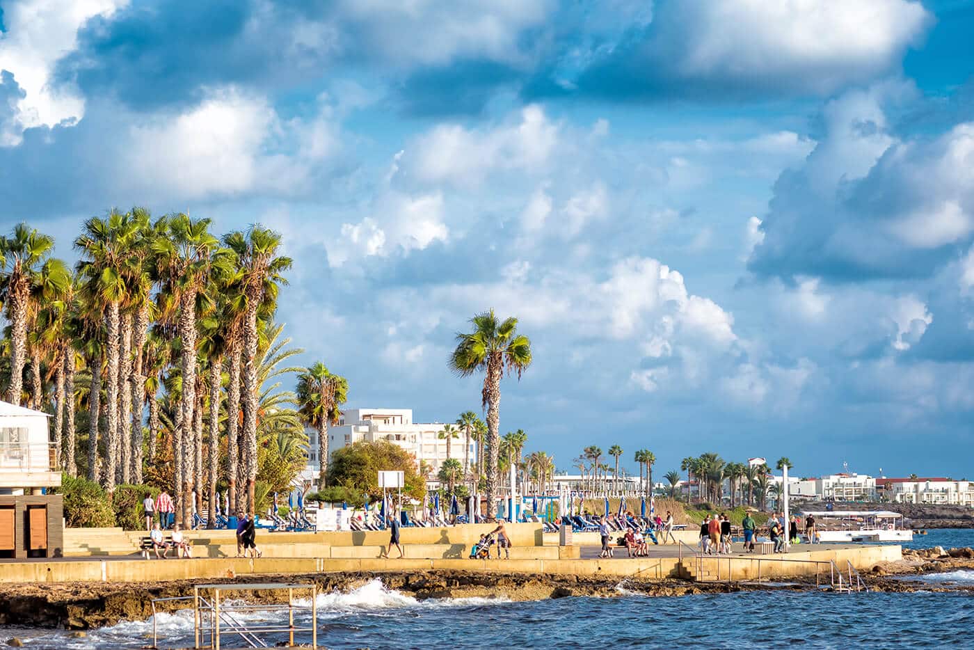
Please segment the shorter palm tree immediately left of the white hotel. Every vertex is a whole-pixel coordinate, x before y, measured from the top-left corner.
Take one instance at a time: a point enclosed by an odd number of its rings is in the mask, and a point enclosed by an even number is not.
[[[338,424],[341,406],[348,400],[349,382],[316,362],[298,375],[297,405],[302,421],[318,432],[318,487],[327,484],[328,425]],[[449,453],[447,454],[449,456]]]

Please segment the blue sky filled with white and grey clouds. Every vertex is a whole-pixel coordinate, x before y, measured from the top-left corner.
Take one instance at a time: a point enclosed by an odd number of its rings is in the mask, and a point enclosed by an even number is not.
[[[260,222],[350,406],[974,477],[974,3],[0,0],[0,205]]]

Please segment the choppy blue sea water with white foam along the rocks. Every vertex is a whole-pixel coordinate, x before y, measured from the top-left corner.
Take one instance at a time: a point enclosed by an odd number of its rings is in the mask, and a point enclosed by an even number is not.
[[[919,548],[974,546],[974,531],[931,530]],[[972,587],[974,570],[910,576],[932,587]],[[378,580],[350,593],[318,595],[318,642],[352,648],[974,648],[974,592],[740,592],[647,597],[620,588],[613,598],[567,597],[418,600]],[[307,601],[306,601],[307,602]],[[277,617],[277,618],[275,618]],[[286,614],[251,613],[250,622]],[[306,618],[299,624],[307,625]],[[160,647],[192,646],[193,615],[159,614]],[[135,649],[152,643],[152,619],[126,621],[74,638],[67,631],[0,628],[0,644],[17,636],[27,648]],[[706,640],[702,640],[706,639]],[[225,641],[233,640],[224,637]],[[269,645],[283,640],[270,637]],[[309,642],[310,634],[297,640]],[[240,643],[225,643],[228,647]]]

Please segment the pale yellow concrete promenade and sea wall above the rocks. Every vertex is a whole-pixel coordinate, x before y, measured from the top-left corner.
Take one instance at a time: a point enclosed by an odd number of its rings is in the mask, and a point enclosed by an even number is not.
[[[159,582],[207,580],[260,574],[320,572],[476,571],[533,575],[690,580],[754,580],[829,573],[829,562],[846,568],[846,560],[860,571],[880,561],[901,558],[899,546],[815,545],[793,547],[792,553],[704,556],[697,558],[679,545],[650,546],[648,557],[626,557],[616,549],[613,558],[598,558],[596,546],[544,545],[539,524],[508,524],[514,543],[511,559],[468,559],[469,545],[490,524],[449,528],[403,528],[405,556],[385,557],[385,532],[258,533],[264,556],[236,557],[233,531],[192,531],[193,559],[142,559],[137,554],[141,531],[90,529],[65,535],[65,554],[84,555],[52,560],[0,560],[0,583],[22,582]],[[579,540],[581,541],[581,540]],[[587,542],[587,540],[584,540]],[[99,553],[110,549],[110,552]]]

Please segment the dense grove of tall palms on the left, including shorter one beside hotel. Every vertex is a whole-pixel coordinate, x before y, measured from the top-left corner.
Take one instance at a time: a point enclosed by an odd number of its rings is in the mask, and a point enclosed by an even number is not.
[[[7,400],[53,412],[56,454],[71,476],[76,409],[87,410],[88,477],[109,494],[143,481],[143,460],[156,461],[166,433],[184,523],[194,489],[198,507],[204,494],[214,503],[218,476],[232,512],[254,509],[258,425],[297,439],[302,424],[315,426],[327,458],[327,425],[348,392],[320,363],[278,369],[301,371],[296,397],[262,387],[262,357],[265,367],[281,361],[273,316],[291,259],[272,230],[219,238],[210,226],[184,213],[109,210],[85,221],[73,272],[53,256],[54,239],[27,224],[0,237]],[[287,407],[294,401],[299,411]]]

